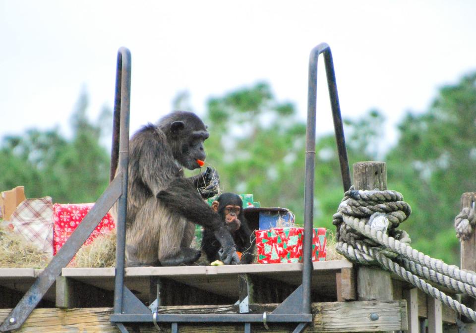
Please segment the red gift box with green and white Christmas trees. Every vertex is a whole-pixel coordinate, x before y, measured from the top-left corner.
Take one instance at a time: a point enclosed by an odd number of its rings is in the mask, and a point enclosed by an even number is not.
[[[256,230],[259,264],[301,263],[304,228]],[[314,228],[312,261],[326,260],[326,229]]]

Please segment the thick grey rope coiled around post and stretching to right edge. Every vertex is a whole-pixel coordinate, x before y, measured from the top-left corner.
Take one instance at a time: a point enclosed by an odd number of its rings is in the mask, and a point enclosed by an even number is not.
[[[460,270],[413,249],[408,233],[396,229],[410,214],[411,208],[399,192],[351,188],[333,216],[337,252],[353,262],[388,270],[476,321],[475,311],[424,280],[475,297],[476,273]]]

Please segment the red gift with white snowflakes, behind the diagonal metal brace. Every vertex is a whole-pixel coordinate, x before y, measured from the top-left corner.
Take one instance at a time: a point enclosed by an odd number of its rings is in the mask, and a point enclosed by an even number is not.
[[[94,204],[54,204],[53,205],[53,255],[60,250],[74,229],[88,214]],[[115,228],[113,218],[109,213],[99,222],[92,234],[84,244],[90,244],[92,240],[102,234],[108,234]]]

